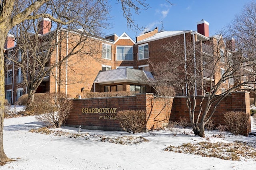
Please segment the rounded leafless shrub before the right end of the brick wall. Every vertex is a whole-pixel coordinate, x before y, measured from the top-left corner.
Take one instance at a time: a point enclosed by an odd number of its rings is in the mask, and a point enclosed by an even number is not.
[[[224,113],[224,120],[227,125],[227,129],[232,133],[232,135],[240,134],[248,119],[250,119],[250,115],[243,111],[228,111]]]

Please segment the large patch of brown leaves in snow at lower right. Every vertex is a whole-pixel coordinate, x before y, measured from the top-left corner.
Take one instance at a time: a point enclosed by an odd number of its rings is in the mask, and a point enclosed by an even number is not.
[[[177,153],[189,153],[204,157],[216,157],[224,160],[256,160],[256,148],[248,143],[235,141],[234,143],[200,142],[196,144],[185,143],[179,147],[170,146],[164,149]]]

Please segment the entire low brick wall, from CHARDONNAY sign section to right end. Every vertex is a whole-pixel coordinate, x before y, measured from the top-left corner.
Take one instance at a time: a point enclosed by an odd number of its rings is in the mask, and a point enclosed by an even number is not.
[[[202,96],[201,96],[202,97]],[[196,97],[199,104],[200,96]],[[84,129],[120,130],[116,114],[126,109],[146,110],[146,129],[152,130],[164,127],[169,121],[176,121],[179,117],[188,117],[186,98],[156,98],[150,93],[139,93],[136,96],[90,98],[72,100],[74,108],[66,121],[66,125]],[[203,104],[204,106],[204,104]],[[114,108],[115,113],[82,113],[82,108],[100,109]],[[224,114],[226,111],[244,111],[250,114],[250,102],[248,92],[236,92],[226,98],[216,108],[213,115],[214,123],[225,124]],[[251,131],[250,119],[248,120],[242,135],[248,136]]]

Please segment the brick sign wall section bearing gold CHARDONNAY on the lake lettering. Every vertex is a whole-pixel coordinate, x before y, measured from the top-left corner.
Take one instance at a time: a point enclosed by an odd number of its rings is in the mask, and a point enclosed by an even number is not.
[[[154,98],[151,93],[139,93],[136,96],[89,98],[72,101],[74,107],[66,121],[68,126],[78,127],[81,125],[84,129],[122,130],[119,121],[116,120],[118,111],[142,109],[147,112],[146,129],[150,130],[163,127],[168,123],[173,98]],[[102,111],[96,111],[96,108],[110,108],[112,111],[101,113]]]

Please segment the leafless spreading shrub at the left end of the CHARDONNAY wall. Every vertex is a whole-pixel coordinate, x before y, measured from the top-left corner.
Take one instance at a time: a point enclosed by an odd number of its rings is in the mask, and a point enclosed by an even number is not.
[[[59,128],[66,122],[72,108],[72,101],[67,100],[66,95],[61,93],[45,94],[40,104],[41,106],[37,105],[38,108],[35,109],[39,112],[46,109],[47,112],[36,115],[36,119]]]

